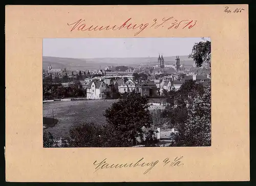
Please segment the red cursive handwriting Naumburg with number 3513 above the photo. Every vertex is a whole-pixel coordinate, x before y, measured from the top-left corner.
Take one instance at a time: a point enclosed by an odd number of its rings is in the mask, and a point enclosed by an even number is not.
[[[144,31],[146,28],[153,28],[153,29],[158,29],[158,28],[167,28],[169,29],[191,29],[193,28],[197,23],[197,20],[177,20],[174,19],[174,17],[169,17],[169,18],[163,18],[161,21],[158,21],[157,19],[153,19],[152,22],[145,22],[145,23],[134,23],[132,21],[132,18],[129,18],[125,20],[123,23],[115,24],[115,25],[88,25],[86,23],[85,19],[78,19],[75,22],[68,23],[69,26],[71,26],[72,31],[117,31],[121,29],[127,29],[127,30],[136,30],[136,33],[134,36],[137,36],[140,34],[142,31]]]

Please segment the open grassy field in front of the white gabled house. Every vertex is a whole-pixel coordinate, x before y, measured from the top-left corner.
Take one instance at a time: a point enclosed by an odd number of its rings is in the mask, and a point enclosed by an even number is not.
[[[73,126],[84,122],[105,124],[103,112],[111,107],[115,99],[106,100],[79,100],[54,101],[43,104],[44,131],[49,131],[54,138],[66,138]],[[150,102],[159,102],[163,99],[150,99]],[[54,124],[53,124],[54,115]]]

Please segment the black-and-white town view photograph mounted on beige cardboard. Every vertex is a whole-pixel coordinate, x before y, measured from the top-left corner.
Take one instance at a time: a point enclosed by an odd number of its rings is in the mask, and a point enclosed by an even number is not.
[[[211,146],[210,38],[45,38],[43,146]]]

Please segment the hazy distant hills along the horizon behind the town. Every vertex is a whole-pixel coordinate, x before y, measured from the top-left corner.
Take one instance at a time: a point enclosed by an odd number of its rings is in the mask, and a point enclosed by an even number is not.
[[[188,59],[187,56],[179,56],[180,64],[184,66],[192,66],[194,61]],[[165,64],[175,63],[176,56],[164,57]],[[47,70],[48,64],[52,64],[54,69],[64,69],[67,70],[94,70],[104,68],[106,66],[131,66],[136,67],[138,65],[157,65],[158,57],[155,58],[93,58],[93,59],[76,59],[76,58],[58,58],[58,57],[42,57],[42,68]]]

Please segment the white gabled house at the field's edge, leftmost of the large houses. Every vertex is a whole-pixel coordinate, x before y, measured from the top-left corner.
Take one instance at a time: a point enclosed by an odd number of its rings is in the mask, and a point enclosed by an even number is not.
[[[105,99],[106,85],[104,82],[94,79],[86,87],[87,99]]]

